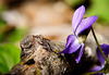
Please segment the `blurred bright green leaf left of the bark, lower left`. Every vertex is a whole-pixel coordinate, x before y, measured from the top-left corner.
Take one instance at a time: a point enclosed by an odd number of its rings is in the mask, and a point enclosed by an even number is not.
[[[13,43],[0,46],[0,73],[4,74],[20,62],[20,49]]]

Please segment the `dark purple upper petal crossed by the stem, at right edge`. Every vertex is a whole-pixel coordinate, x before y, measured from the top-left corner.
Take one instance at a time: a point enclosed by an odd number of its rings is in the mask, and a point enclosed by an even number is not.
[[[101,47],[101,49],[102,49],[106,58],[108,58],[108,54],[109,54],[109,46],[106,45],[106,43],[104,43],[104,45],[100,45],[100,47]],[[105,59],[104,59],[104,57],[102,57],[102,54],[101,54],[101,52],[99,51],[98,48],[97,48],[96,51],[97,51],[97,57],[98,57],[99,62],[100,62],[100,66],[102,66],[105,64]]]

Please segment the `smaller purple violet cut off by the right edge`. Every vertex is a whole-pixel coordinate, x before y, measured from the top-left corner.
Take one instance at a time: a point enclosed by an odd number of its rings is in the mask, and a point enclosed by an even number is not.
[[[106,45],[106,43],[104,43],[104,45],[100,45],[100,47],[101,47],[101,49],[102,49],[106,58],[108,58],[108,54],[109,54],[109,46]],[[105,59],[104,59],[104,57],[102,57],[99,48],[97,48],[96,51],[97,51],[97,57],[98,57],[98,60],[100,62],[100,65],[93,67],[89,72],[97,72],[97,71],[100,71],[100,70],[102,70],[105,67]],[[106,72],[106,71],[109,72],[109,63],[106,66],[108,66],[108,68],[105,68],[104,72]],[[100,73],[95,74],[95,75],[102,75],[102,73],[100,72]]]

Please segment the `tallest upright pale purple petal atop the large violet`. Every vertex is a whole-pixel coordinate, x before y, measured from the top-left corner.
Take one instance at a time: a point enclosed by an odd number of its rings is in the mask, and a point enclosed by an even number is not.
[[[77,26],[80,25],[83,16],[84,16],[84,13],[85,13],[85,7],[82,5],[73,14],[73,17],[72,17],[72,27],[73,27],[73,32],[75,33]]]

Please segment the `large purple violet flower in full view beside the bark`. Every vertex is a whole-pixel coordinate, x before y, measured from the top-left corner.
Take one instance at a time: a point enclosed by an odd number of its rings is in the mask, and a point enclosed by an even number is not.
[[[70,35],[68,37],[65,49],[60,52],[60,53],[73,53],[77,51],[77,57],[75,59],[76,63],[78,63],[81,60],[81,57],[84,51],[84,41],[85,41],[85,39],[83,38],[83,35],[82,35],[82,41],[80,41],[78,36],[80,34],[85,34],[85,36],[87,36],[90,30],[90,26],[98,18],[97,15],[95,15],[95,16],[90,16],[90,17],[82,20],[84,16],[84,13],[85,13],[84,5],[80,7],[74,12],[73,18],[72,18],[72,27],[73,27],[74,35]]]

